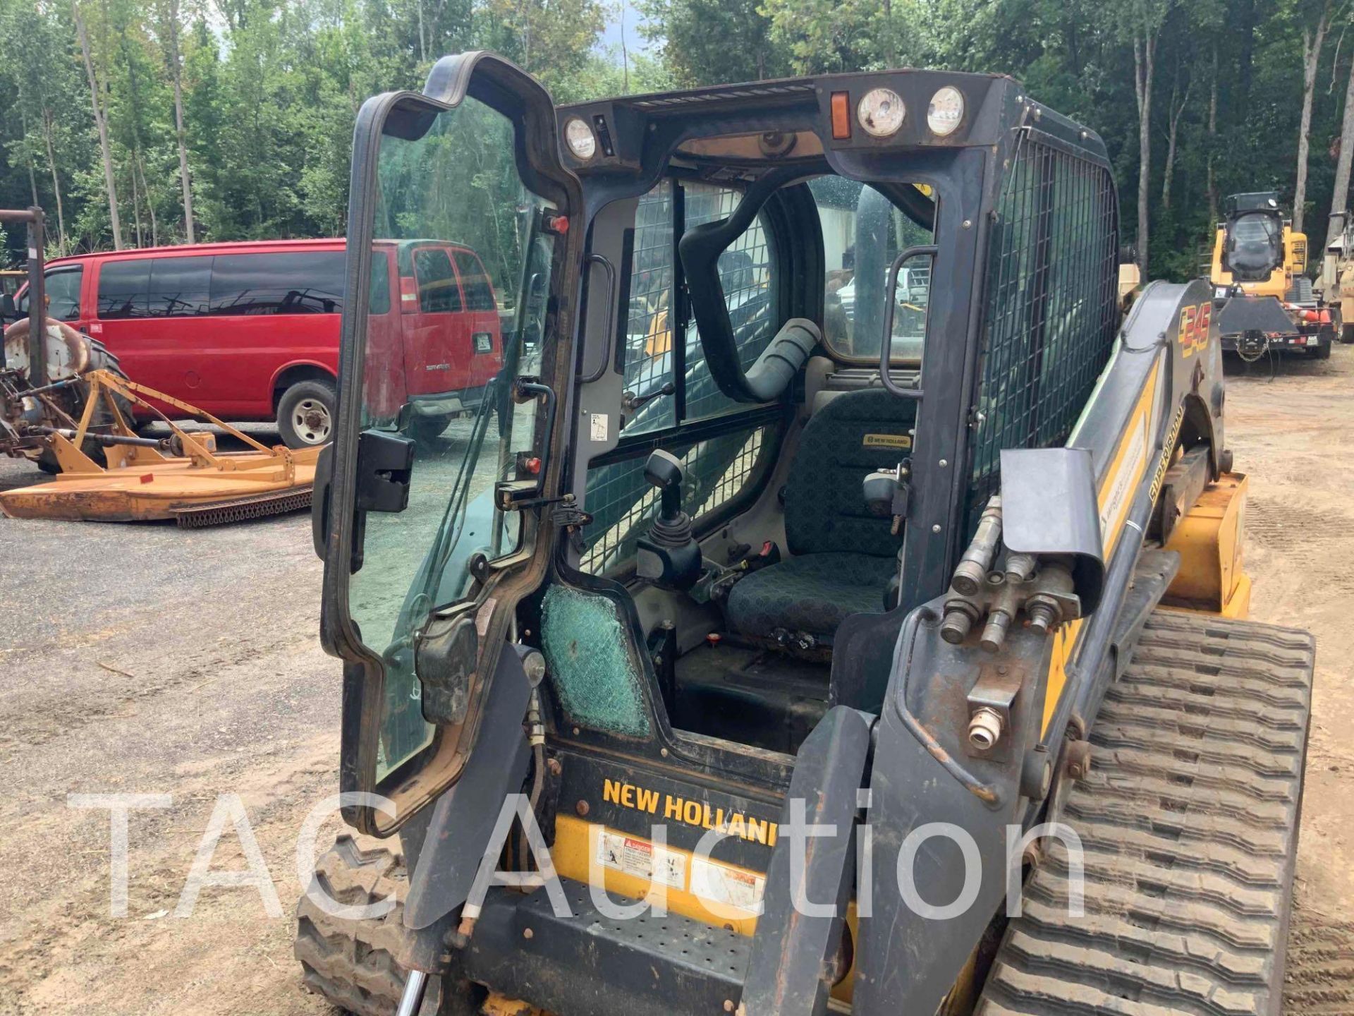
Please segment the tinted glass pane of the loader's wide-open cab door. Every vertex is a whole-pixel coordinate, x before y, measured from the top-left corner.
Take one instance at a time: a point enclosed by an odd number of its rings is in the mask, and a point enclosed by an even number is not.
[[[425,370],[432,381],[414,390],[402,336],[368,308],[363,420],[416,447],[409,505],[366,515],[362,566],[348,587],[362,641],[385,666],[378,782],[433,740],[414,675],[416,635],[432,611],[466,596],[474,554],[498,559],[524,549],[519,516],[496,509],[493,486],[515,477],[516,452],[535,446],[538,404],[509,396],[523,345],[540,340],[554,236],[543,229],[547,205],[523,183],[513,152],[512,122],[468,96],[436,114],[421,137],[386,134],[380,144],[376,244],[420,241],[410,294],[420,314],[463,308],[448,251],[473,252],[485,276],[478,299],[493,306],[485,331],[501,335],[504,356],[477,359],[467,341],[448,351],[448,368]],[[401,289],[402,305],[403,297]],[[441,378],[464,371],[467,385],[443,390],[451,382]]]

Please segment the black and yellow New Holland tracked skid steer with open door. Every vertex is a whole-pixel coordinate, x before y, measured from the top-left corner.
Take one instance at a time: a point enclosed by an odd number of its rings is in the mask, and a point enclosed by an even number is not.
[[[311,990],[1278,1012],[1313,645],[1244,620],[1212,291],[1121,310],[1094,131],[926,70],[555,108],[470,53],[352,165],[348,291],[454,240],[516,329],[416,454],[345,306]]]

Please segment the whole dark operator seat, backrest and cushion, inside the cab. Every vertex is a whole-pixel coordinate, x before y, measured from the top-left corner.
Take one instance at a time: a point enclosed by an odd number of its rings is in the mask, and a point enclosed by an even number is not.
[[[785,484],[785,542],[792,557],[753,572],[728,593],[731,629],[776,639],[777,629],[831,645],[850,614],[881,614],[902,534],[865,505],[861,481],[911,451],[917,404],[883,389],[835,396],[800,436]]]

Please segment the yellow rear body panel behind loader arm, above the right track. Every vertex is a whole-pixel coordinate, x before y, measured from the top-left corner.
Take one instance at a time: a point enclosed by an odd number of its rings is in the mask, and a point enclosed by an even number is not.
[[[1246,493],[1242,473],[1209,484],[1198,503],[1175,524],[1167,550],[1181,555],[1181,570],[1163,606],[1228,618],[1250,610],[1251,580],[1244,568]]]

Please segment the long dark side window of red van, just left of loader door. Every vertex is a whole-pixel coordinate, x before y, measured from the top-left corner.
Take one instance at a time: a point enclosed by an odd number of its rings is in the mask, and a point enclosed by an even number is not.
[[[337,314],[343,310],[341,251],[217,255],[213,314]]]

